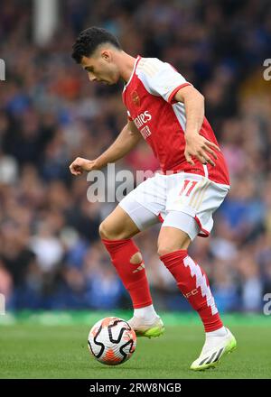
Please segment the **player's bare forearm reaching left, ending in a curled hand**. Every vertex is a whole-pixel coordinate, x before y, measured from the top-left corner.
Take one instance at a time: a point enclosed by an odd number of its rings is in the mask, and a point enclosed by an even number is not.
[[[70,172],[73,175],[81,175],[83,171],[100,170],[109,162],[117,162],[130,152],[140,141],[142,135],[135,127],[133,121],[128,121],[117,139],[108,149],[95,160],[88,160],[78,157],[70,164]]]

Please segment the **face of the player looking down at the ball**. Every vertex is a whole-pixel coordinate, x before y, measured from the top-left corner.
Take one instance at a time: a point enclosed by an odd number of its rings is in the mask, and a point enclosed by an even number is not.
[[[119,79],[119,72],[111,51],[97,50],[91,57],[83,57],[81,66],[87,70],[90,81],[112,85],[116,84]]]

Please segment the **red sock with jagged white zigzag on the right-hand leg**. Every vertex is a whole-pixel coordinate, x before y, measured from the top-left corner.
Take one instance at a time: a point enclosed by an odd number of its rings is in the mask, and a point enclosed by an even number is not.
[[[215,331],[223,324],[219,311],[210,292],[206,273],[194,263],[186,250],[174,251],[160,257],[173,274],[182,295],[189,300],[192,308],[201,316],[205,332]]]

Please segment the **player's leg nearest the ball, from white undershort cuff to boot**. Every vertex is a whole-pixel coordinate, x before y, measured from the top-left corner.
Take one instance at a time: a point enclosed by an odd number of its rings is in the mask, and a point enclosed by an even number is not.
[[[131,239],[140,230],[158,222],[158,218],[134,200],[126,199],[122,205],[126,210],[117,206],[102,222],[99,233],[133,302],[134,317],[129,324],[137,336],[159,337],[164,332],[164,324],[154,310],[142,254]]]

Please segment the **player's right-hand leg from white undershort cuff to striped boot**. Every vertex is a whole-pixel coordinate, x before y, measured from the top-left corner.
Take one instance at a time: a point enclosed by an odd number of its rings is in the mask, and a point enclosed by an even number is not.
[[[198,232],[199,226],[193,217],[172,211],[165,217],[158,238],[161,261],[173,274],[182,295],[200,315],[205,329],[205,344],[199,358],[192,363],[193,370],[217,365],[220,358],[236,346],[235,338],[220,319],[207,274],[187,254],[187,248]]]

